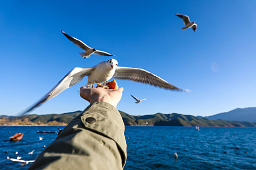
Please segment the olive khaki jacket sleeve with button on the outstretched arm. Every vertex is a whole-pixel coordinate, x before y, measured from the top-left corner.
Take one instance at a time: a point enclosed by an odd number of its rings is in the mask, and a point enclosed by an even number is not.
[[[109,103],[94,102],[71,120],[28,170],[121,170],[126,156],[120,113]]]

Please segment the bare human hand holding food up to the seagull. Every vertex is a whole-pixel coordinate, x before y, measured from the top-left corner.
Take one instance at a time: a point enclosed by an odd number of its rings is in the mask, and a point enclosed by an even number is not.
[[[117,90],[105,89],[101,87],[86,88],[80,87],[80,96],[86,101],[90,102],[107,102],[117,108],[118,102],[122,98],[123,87]]]

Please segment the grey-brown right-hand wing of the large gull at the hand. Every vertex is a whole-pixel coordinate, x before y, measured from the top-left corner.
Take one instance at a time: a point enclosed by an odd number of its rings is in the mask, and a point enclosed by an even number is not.
[[[183,89],[169,84],[157,75],[141,68],[117,67],[113,78],[132,80],[135,82],[146,83],[171,90],[184,91]]]

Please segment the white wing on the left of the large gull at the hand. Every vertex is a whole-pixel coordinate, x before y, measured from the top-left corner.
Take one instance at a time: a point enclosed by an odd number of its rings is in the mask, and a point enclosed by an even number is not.
[[[55,85],[49,93],[47,93],[39,102],[34,104],[32,107],[30,107],[25,112],[21,113],[20,116],[27,114],[34,108],[38,107],[41,103],[57,96],[59,93],[64,91],[65,89],[71,87],[72,85],[76,85],[78,82],[80,82],[84,76],[88,76],[92,73],[92,71],[95,69],[93,68],[74,68],[69,73],[63,77],[57,85]]]

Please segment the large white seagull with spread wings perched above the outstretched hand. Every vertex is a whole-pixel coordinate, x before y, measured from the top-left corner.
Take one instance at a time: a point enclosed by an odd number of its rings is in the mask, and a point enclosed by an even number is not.
[[[181,89],[169,84],[167,81],[147,70],[141,68],[118,67],[117,65],[118,61],[112,58],[107,61],[103,61],[92,68],[77,67],[72,69],[39,102],[31,106],[25,112],[21,113],[20,116],[27,114],[34,108],[38,107],[41,103],[59,95],[59,93],[72,85],[76,85],[85,76],[88,76],[88,82],[85,87],[93,87],[95,83],[102,83],[110,80],[111,78],[115,78],[155,85],[175,91],[189,92],[189,90]]]

